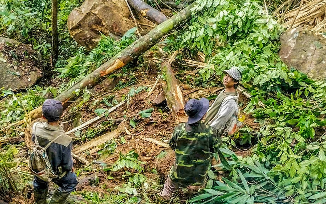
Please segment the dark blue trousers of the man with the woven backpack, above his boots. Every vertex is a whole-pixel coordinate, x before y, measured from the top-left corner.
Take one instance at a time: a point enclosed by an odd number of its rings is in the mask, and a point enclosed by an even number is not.
[[[59,193],[71,193],[78,184],[77,176],[73,172],[67,172],[61,179],[52,179],[52,181],[59,186],[57,189]],[[49,182],[43,181],[35,176],[33,185],[36,193],[47,191],[49,188]]]

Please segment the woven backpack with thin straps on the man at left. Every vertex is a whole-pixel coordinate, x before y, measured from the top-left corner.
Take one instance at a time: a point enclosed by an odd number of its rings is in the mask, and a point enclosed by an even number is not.
[[[51,142],[49,142],[44,148],[41,147],[37,141],[36,135],[36,126],[34,128],[35,133],[35,145],[33,146],[33,150],[29,156],[28,167],[30,172],[36,176],[37,178],[44,181],[51,181],[53,178],[57,178],[58,176],[54,174],[52,166],[50,164],[48,154],[46,153],[46,149],[60,136],[64,134],[60,134],[56,138],[54,138]]]

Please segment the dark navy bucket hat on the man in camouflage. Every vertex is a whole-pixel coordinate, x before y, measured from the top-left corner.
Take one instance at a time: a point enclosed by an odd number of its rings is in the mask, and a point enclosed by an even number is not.
[[[185,113],[188,117],[188,124],[194,124],[198,122],[207,112],[209,107],[209,101],[206,98],[190,99],[185,104]]]

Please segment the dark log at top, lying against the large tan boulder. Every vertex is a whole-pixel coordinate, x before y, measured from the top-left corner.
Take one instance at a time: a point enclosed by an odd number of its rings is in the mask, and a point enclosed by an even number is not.
[[[161,24],[164,21],[168,20],[168,18],[163,13],[146,4],[142,0],[127,0],[127,2],[138,13],[156,24]]]

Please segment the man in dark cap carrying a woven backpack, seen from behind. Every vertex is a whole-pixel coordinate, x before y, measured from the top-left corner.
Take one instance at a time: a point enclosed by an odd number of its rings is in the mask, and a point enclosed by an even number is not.
[[[48,99],[42,106],[42,117],[46,122],[36,122],[33,125],[32,140],[35,147],[29,167],[34,175],[34,200],[37,204],[47,203],[51,180],[59,188],[54,191],[50,204],[65,203],[78,184],[71,157],[72,139],[59,126],[62,116],[61,102]]]

